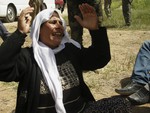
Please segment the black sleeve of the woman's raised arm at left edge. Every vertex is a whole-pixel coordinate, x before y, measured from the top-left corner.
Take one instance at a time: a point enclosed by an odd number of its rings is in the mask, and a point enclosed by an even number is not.
[[[17,65],[19,59],[18,55],[21,51],[21,46],[25,41],[25,34],[16,30],[10,37],[8,37],[0,46],[0,80],[1,81],[15,81],[17,76]],[[15,76],[13,76],[13,74]]]

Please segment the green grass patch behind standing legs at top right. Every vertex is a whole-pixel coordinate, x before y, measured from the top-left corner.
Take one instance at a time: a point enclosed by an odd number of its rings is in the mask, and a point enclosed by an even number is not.
[[[112,1],[112,17],[107,18],[104,15],[103,26],[113,29],[134,29],[134,30],[149,30],[150,29],[150,0],[134,0],[132,2],[130,27],[125,27],[125,22],[122,14],[122,2],[118,0]],[[105,13],[103,13],[105,14]]]

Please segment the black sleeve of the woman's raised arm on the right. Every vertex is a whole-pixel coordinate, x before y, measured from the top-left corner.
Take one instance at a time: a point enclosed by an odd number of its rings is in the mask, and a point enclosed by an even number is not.
[[[105,27],[90,31],[92,44],[88,48],[82,48],[80,60],[83,70],[95,70],[102,68],[111,59],[110,45]]]

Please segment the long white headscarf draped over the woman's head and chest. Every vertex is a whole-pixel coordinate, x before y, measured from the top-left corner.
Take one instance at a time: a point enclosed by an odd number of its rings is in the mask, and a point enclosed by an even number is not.
[[[39,42],[39,33],[41,24],[48,21],[52,16],[53,12],[56,11],[63,22],[64,27],[64,37],[61,41],[61,44],[55,48],[51,49],[46,46],[42,42]],[[57,113],[66,113],[63,104],[63,91],[59,78],[59,73],[56,65],[55,55],[65,48],[65,43],[72,43],[78,48],[80,48],[80,44],[70,39],[67,31],[65,21],[60,15],[60,12],[57,9],[45,9],[37,14],[35,17],[33,24],[31,26],[30,36],[32,38],[32,46],[34,52],[34,58],[40,67],[43,78],[48,85],[48,88],[52,94],[52,97],[55,101],[55,108]]]

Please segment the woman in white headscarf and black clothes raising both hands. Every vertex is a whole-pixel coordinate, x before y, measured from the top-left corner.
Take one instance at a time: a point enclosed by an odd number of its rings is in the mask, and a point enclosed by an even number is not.
[[[29,31],[33,8],[22,11],[18,29],[1,45],[0,80],[19,82],[16,113],[128,113],[125,98],[95,101],[83,80],[83,70],[103,68],[110,60],[104,27],[88,4],[79,6],[92,44],[81,47],[70,39],[59,11],[46,9],[31,27],[32,47],[21,48]],[[7,52],[9,51],[9,52]],[[121,112],[120,112],[121,111]]]

